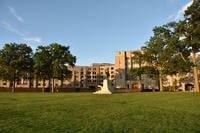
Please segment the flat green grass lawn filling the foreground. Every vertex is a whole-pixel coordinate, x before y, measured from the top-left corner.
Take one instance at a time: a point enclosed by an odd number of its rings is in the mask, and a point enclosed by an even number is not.
[[[1,92],[0,132],[200,132],[200,94]]]

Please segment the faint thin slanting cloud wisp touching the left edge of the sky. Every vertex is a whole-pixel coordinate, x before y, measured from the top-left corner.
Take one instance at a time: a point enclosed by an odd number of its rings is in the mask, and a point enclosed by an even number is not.
[[[25,34],[21,33],[19,30],[17,30],[16,28],[14,28],[10,23],[2,21],[0,22],[0,27],[6,29],[7,31],[10,31],[12,33],[15,33],[19,36],[25,36]]]

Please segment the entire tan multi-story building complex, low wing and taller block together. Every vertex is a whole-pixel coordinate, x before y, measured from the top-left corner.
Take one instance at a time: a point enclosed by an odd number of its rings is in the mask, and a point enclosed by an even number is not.
[[[139,79],[132,78],[129,74],[129,70],[132,68],[138,68],[139,64],[134,60],[136,52],[143,52],[141,50],[129,50],[129,51],[117,51],[115,53],[115,64],[110,63],[93,63],[90,66],[74,66],[67,67],[72,71],[71,79],[65,79],[63,81],[55,79],[55,87],[64,88],[95,88],[98,85],[102,85],[103,79],[106,78],[106,73],[109,72],[109,80],[112,80],[112,84],[115,88],[127,88],[140,90],[141,85],[144,88],[157,89],[158,82],[152,80],[147,75],[142,75],[142,82]],[[199,63],[200,64],[200,63]],[[143,62],[142,66],[147,64]],[[188,77],[188,76],[186,76]],[[190,76],[192,77],[192,76]],[[179,81],[182,76],[166,76],[166,80],[163,81],[164,86],[172,86],[174,81]],[[192,81],[182,83],[182,86],[191,84]],[[12,83],[9,81],[0,80],[0,87],[11,87]],[[49,80],[36,80],[21,78],[16,81],[16,87],[26,88],[50,88],[51,82]],[[182,87],[185,90],[185,87]]]

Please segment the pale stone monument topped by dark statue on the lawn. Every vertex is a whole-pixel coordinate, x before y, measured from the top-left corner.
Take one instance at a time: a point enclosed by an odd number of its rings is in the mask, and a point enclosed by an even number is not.
[[[108,69],[106,70],[106,79],[103,80],[103,86],[98,86],[101,89],[94,92],[93,94],[112,94],[113,93],[113,87],[112,82],[108,80],[108,77],[110,76]]]

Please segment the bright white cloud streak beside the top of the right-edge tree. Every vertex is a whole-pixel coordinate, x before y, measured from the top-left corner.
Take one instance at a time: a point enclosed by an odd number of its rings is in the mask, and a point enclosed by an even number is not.
[[[183,18],[184,12],[187,10],[188,7],[190,7],[193,4],[193,0],[185,4],[180,10],[178,10],[176,13],[169,15],[168,20],[180,20]]]

